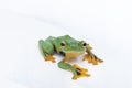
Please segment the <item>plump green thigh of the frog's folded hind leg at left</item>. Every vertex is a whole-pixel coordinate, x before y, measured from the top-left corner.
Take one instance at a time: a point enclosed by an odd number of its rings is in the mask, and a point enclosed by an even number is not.
[[[43,55],[44,54],[53,54],[53,52],[54,52],[54,46],[48,41],[40,40],[38,41],[38,46],[40,46],[40,50],[41,50]]]

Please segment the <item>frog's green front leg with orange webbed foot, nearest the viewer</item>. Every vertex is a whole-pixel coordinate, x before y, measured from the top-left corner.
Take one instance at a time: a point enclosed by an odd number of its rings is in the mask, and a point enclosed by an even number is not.
[[[68,69],[73,73],[73,79],[77,79],[77,78],[80,78],[80,77],[89,77],[90,75],[87,74],[87,69],[86,68],[82,68],[82,67],[79,67],[78,65],[74,64],[74,65],[70,65],[68,63],[65,62],[66,58],[64,58],[63,61],[61,61],[58,63],[58,67],[59,68],[63,68],[63,69]]]

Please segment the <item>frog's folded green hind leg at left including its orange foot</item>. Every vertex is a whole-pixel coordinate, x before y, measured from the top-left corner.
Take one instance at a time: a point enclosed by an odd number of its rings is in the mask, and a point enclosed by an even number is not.
[[[40,40],[38,46],[40,46],[42,55],[44,56],[44,59],[55,63],[55,58],[53,57],[53,53],[54,53],[53,44],[48,41]]]

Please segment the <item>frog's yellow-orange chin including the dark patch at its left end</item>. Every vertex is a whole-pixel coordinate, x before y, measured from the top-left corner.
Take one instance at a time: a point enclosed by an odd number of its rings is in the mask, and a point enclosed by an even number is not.
[[[85,51],[82,52],[61,52],[61,54],[63,56],[65,56],[66,58],[74,58],[74,57],[77,57],[79,55],[82,55],[85,53]]]

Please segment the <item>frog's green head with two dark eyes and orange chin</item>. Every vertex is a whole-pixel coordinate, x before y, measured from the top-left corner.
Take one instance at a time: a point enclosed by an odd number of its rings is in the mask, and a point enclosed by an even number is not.
[[[87,43],[84,41],[65,40],[59,43],[59,53],[67,58],[77,57],[86,52]]]

